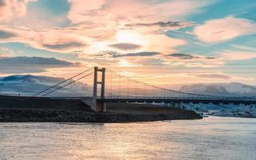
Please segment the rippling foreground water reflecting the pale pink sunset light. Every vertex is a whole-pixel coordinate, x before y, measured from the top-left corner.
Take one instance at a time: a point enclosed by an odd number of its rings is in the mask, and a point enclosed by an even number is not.
[[[256,119],[0,123],[0,159],[256,159]]]

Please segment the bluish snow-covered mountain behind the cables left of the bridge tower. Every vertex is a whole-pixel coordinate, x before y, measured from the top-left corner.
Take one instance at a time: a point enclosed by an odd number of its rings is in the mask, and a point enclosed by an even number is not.
[[[12,75],[0,78],[0,94],[29,96],[36,94],[41,90],[45,90],[63,80],[65,79],[48,76]],[[90,95],[88,90],[89,86],[86,84],[82,82],[74,82],[72,85],[66,86],[62,90],[50,94],[50,96],[87,96]]]

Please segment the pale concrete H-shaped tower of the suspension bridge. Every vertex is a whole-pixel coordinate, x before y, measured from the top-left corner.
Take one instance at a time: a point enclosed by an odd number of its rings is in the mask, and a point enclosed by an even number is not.
[[[98,72],[102,73],[102,79],[101,81],[98,81]],[[101,94],[100,98],[104,99],[105,98],[105,73],[106,73],[106,68],[101,68],[99,69],[98,66],[94,67],[94,92],[93,92],[93,102],[94,102],[94,107],[93,109],[97,112],[106,112],[106,102],[97,102],[98,98],[98,85],[101,85]]]

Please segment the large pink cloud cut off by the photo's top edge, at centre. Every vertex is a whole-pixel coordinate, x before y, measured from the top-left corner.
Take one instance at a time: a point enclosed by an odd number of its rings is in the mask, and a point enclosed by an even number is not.
[[[200,13],[204,6],[212,3],[199,0],[123,0],[122,2],[119,0],[94,0],[90,2],[69,0],[69,2],[71,8],[68,18],[71,22],[99,24],[106,22],[106,20],[115,23],[180,20],[185,19],[188,14]]]

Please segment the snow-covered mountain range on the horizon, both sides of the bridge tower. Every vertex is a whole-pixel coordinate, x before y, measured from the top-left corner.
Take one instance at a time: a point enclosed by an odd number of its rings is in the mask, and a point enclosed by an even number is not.
[[[0,78],[0,94],[33,95],[64,80],[64,78],[30,74],[11,75]],[[51,96],[89,96],[89,90],[90,86],[87,84],[74,82],[71,86],[66,86],[62,90],[54,92]],[[197,94],[256,96],[256,86],[249,86],[238,82],[182,84],[179,87],[176,86],[174,90]]]

